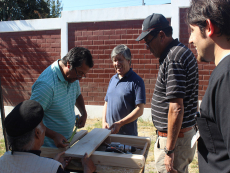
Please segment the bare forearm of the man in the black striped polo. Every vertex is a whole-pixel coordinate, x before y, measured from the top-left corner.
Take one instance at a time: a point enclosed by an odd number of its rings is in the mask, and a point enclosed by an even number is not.
[[[173,150],[176,145],[178,134],[181,129],[184,116],[183,99],[177,98],[170,100],[168,111],[168,132],[167,132],[167,144],[168,150]]]

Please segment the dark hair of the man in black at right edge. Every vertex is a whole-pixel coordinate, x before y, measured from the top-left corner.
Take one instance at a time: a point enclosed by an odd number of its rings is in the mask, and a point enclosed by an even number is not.
[[[226,35],[230,39],[230,0],[192,0],[187,12],[187,23],[197,25],[204,37],[206,20],[219,28],[219,36]]]

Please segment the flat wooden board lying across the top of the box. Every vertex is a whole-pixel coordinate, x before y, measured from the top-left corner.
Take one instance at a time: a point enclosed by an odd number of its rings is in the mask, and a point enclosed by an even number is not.
[[[85,153],[90,157],[91,154],[101,145],[101,143],[110,135],[111,130],[95,128],[81,140],[66,150],[65,156],[83,158]]]

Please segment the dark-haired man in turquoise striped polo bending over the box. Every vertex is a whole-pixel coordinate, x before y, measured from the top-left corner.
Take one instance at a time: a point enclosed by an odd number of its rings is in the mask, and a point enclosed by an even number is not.
[[[72,48],[66,56],[46,68],[32,86],[31,100],[44,109],[46,137],[43,146],[66,147],[74,124],[76,106],[81,113],[78,127],[84,127],[87,112],[81,95],[79,80],[93,67],[89,50]]]

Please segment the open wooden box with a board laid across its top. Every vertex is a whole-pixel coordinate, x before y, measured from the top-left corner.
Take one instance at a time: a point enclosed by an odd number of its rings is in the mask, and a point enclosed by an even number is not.
[[[110,134],[110,130],[95,128],[87,133],[82,130],[74,136],[74,144],[69,148],[58,149],[42,147],[41,156],[53,158],[57,153],[66,150],[65,155],[72,161],[67,169],[82,170],[81,158],[85,153],[96,165],[96,172],[142,172],[151,140],[148,137]],[[105,152],[105,144],[119,142],[137,148],[132,154]]]

